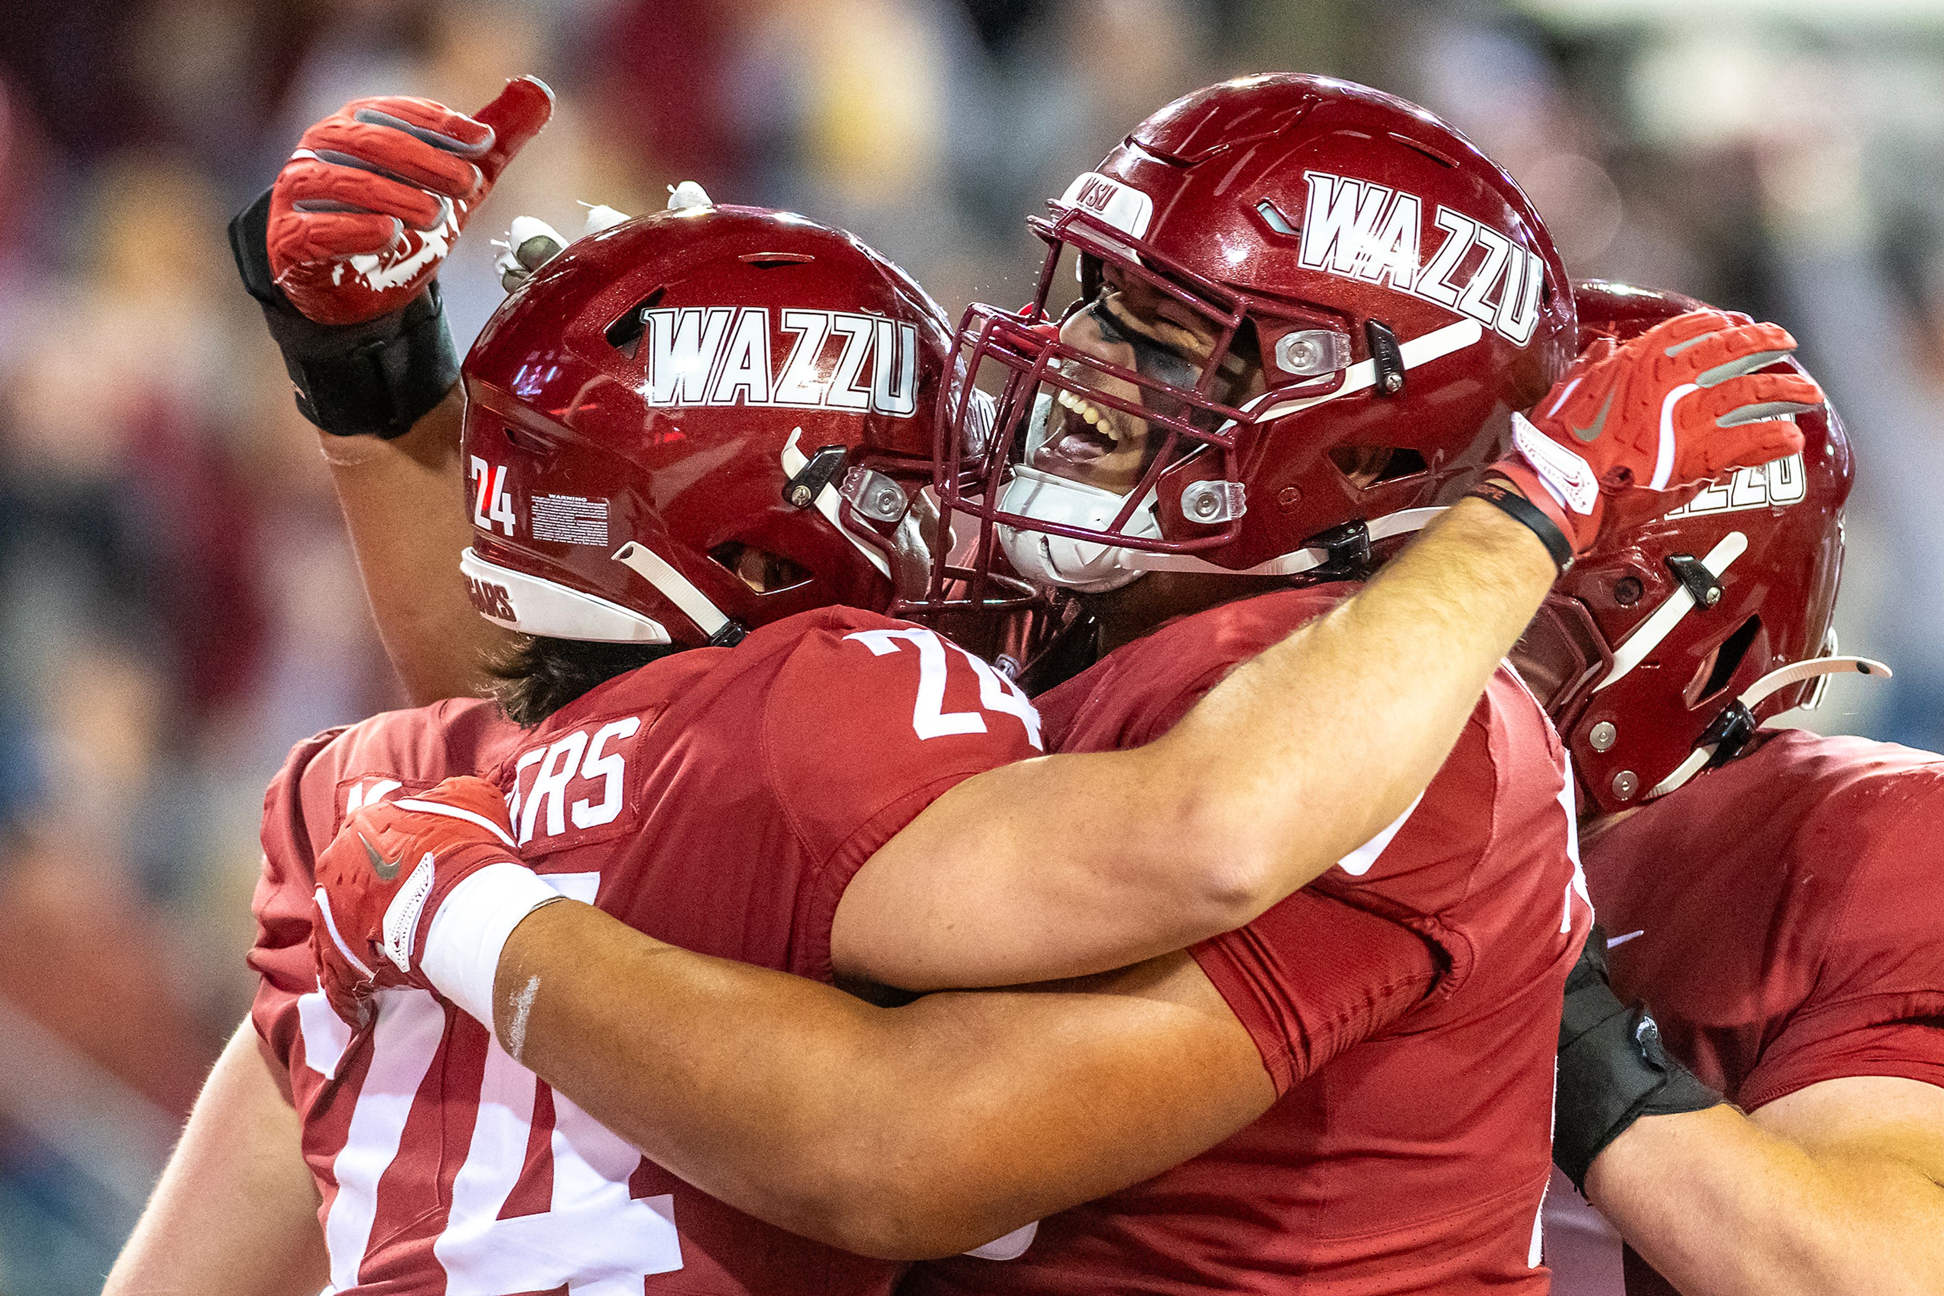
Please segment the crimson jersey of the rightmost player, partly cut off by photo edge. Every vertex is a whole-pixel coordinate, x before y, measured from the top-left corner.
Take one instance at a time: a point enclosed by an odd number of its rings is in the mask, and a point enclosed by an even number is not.
[[[1845,1076],[1944,1086],[1944,758],[1759,740],[1586,843],[1614,993],[1746,1111]],[[1555,1214],[1561,1296],[1674,1290],[1571,1187]]]

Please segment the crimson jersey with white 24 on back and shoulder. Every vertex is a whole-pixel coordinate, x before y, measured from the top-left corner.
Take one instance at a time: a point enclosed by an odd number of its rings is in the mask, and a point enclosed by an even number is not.
[[[830,921],[956,781],[1038,754],[1023,694],[929,630],[818,610],[591,690],[531,731],[486,703],[301,744],[270,789],[255,1020],[323,1193],[329,1292],[885,1292],[896,1265],[745,1216],[643,1160],[422,991],[350,1045],[307,948],[348,806],[478,771],[560,892],[702,954],[830,979]]]

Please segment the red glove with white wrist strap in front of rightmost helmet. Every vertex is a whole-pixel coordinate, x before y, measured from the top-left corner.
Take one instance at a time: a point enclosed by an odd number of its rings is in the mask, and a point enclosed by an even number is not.
[[[1779,324],[1689,311],[1615,346],[1600,338],[1530,416],[1512,416],[1509,478],[1592,548],[1604,501],[1627,490],[1684,492],[1802,449],[1788,420],[1823,402],[1806,373],[1755,373],[1796,350]],[[1680,503],[1670,494],[1662,505]]]

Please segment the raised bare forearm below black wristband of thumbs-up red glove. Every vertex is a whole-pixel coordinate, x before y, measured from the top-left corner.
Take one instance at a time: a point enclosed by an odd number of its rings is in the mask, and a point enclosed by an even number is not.
[[[472,610],[459,571],[472,542],[459,426],[453,387],[393,441],[319,437],[385,653],[420,705],[484,694],[486,653],[505,637]]]

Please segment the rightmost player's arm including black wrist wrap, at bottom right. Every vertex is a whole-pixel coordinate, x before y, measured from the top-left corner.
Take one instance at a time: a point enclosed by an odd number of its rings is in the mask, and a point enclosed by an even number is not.
[[[1934,1292],[1944,1088],[1808,1084],[1744,1115],[1606,983],[1594,927],[1567,981],[1553,1160],[1687,1296]]]

